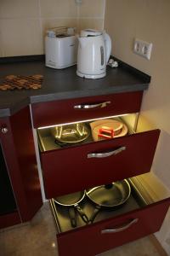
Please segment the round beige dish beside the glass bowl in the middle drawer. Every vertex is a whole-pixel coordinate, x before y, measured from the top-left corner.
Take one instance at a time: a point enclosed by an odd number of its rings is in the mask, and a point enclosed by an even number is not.
[[[127,126],[115,119],[97,120],[90,123],[90,127],[94,142],[97,142],[102,138],[122,137],[127,134]],[[109,135],[105,134],[105,132],[101,133],[102,130],[107,131],[107,133],[109,133],[111,130],[114,132]]]

